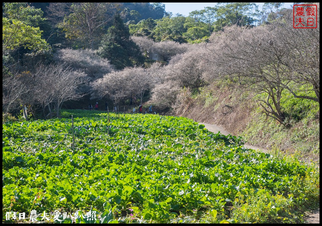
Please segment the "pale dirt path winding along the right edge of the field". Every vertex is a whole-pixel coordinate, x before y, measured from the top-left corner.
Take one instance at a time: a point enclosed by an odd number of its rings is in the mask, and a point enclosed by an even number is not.
[[[228,135],[229,132],[224,130],[222,127],[217,126],[217,125],[213,125],[213,124],[209,124],[209,123],[204,123],[204,122],[199,122],[199,124],[203,124],[205,126],[205,128],[213,133],[217,133],[218,131],[220,131],[223,135]],[[244,145],[246,148],[250,148],[250,149],[255,149],[255,150],[260,150],[263,151],[265,153],[268,153],[269,150],[267,149],[263,149],[260,147],[256,147],[256,146],[252,146],[252,145],[248,145],[245,144]],[[305,220],[305,223],[308,224],[319,224],[320,223],[320,208],[318,208],[315,211],[312,211],[309,213],[308,217]]]

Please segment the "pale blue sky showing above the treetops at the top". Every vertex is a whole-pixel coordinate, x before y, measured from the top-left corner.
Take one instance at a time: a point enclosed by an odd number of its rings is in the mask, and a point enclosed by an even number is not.
[[[216,2],[162,2],[166,6],[166,12],[171,12],[173,16],[175,14],[183,14],[184,16],[189,16],[189,13],[194,10],[201,10],[204,7],[210,6],[213,7],[217,3]],[[261,10],[261,7],[264,5],[263,2],[256,2],[259,6],[258,9]],[[292,3],[285,2],[283,7],[290,8]]]

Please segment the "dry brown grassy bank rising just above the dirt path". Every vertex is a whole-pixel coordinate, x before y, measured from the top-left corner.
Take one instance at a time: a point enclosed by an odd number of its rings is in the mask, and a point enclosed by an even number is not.
[[[175,115],[191,118],[195,121],[213,123],[234,134],[240,134],[250,122],[253,103],[241,100],[237,89],[210,86],[207,92],[218,100],[205,106],[203,98],[191,98],[191,92],[186,91],[178,98]]]

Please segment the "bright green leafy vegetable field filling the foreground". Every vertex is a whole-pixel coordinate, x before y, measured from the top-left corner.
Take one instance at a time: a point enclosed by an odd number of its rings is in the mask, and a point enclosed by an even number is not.
[[[3,221],[299,223],[319,202],[314,166],[187,118],[62,117],[3,124]]]

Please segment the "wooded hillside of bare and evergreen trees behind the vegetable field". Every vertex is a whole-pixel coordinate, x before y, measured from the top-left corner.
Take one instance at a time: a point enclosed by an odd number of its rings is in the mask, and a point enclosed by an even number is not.
[[[294,29],[282,3],[218,3],[187,17],[162,3],[3,3],[2,20],[3,122],[89,102],[128,110],[135,96],[160,114],[247,127],[250,140],[261,130],[253,119],[280,136],[319,125],[319,11],[316,29]],[[225,124],[238,111],[253,116]],[[317,132],[292,142],[313,140],[318,153]]]

